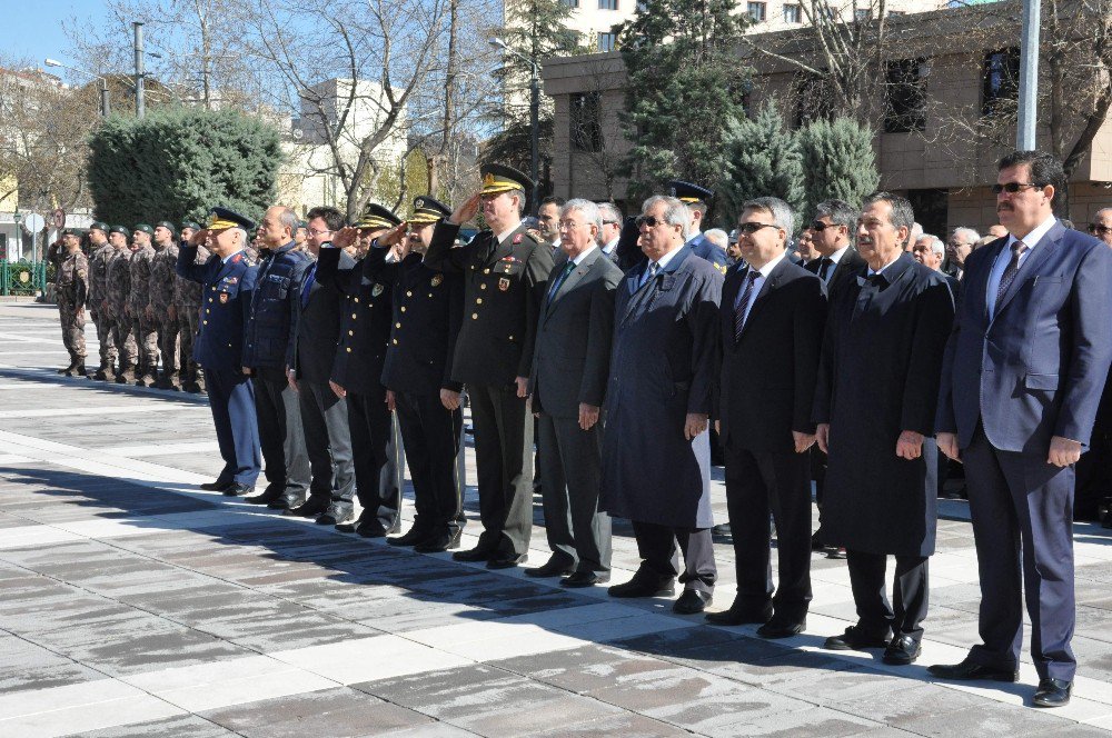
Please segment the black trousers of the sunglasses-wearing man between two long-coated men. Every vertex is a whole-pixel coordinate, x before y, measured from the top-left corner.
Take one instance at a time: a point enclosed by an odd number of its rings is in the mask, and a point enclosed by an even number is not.
[[[726,509],[734,540],[738,606],[800,622],[811,602],[811,457],[727,447]],[[780,587],[773,596],[772,537],[776,521]]]

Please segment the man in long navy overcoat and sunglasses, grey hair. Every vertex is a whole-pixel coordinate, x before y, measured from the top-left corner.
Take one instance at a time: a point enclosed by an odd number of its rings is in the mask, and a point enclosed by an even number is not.
[[[711,604],[717,568],[711,540],[711,433],[718,369],[722,272],[684,243],[687,207],[652,197],[642,206],[645,262],[615,295],[606,388],[600,507],[633,522],[641,566],[612,597],[684,594],[683,615]],[[684,555],[677,568],[676,545]]]

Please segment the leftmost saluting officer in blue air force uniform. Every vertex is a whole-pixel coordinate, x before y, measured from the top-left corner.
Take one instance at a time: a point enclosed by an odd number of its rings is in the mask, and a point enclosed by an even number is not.
[[[193,233],[178,251],[178,275],[201,285],[203,307],[193,342],[193,358],[205,367],[209,406],[220,445],[224,469],[201,489],[225,496],[246,495],[259,476],[259,433],[255,419],[251,378],[242,372],[244,301],[255,289],[258,268],[244,255],[255,223],[239,213],[214,208],[208,228]],[[197,263],[197,247],[205,241],[212,253]]]

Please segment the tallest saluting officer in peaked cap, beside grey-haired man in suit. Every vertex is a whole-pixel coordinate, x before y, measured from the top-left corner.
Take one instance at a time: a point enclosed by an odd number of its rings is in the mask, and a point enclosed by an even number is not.
[[[483,189],[437,223],[425,256],[430,269],[464,275],[464,320],[451,379],[467,386],[475,422],[479,509],[478,546],[459,561],[492,569],[526,559],[533,529],[533,419],[528,381],[537,318],[548,289],[552,247],[522,226],[528,177],[512,167],[481,168]],[[459,227],[483,208],[489,230],[453,248]]]

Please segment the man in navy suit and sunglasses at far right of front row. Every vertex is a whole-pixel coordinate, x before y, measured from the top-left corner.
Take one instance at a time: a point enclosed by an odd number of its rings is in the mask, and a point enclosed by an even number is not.
[[[1009,235],[965,261],[937,419],[940,447],[965,463],[984,642],[961,664],[930,670],[1017,679],[1022,572],[1039,707],[1068,704],[1076,671],[1073,465],[1112,360],[1112,252],[1054,218],[1063,181],[1050,154],[1000,160],[993,189]]]

